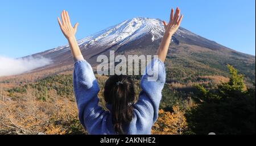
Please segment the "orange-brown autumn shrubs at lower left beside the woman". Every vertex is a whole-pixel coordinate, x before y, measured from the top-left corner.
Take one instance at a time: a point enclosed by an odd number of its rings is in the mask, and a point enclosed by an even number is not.
[[[50,91],[51,98],[40,101],[28,89],[24,98],[0,101],[0,134],[85,134],[76,103],[55,93]]]

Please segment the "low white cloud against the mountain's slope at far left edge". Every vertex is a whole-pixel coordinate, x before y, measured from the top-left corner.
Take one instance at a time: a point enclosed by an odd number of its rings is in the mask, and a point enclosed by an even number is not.
[[[11,59],[0,56],[0,77],[24,73],[48,64],[51,64],[51,60],[44,57],[30,56],[24,59]]]

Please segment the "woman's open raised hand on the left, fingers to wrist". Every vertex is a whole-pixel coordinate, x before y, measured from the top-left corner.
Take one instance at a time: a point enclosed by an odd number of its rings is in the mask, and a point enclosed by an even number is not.
[[[62,23],[61,23],[62,20]],[[61,31],[63,32],[64,36],[67,39],[71,39],[72,37],[75,37],[77,26],[79,23],[76,23],[74,27],[72,27],[72,24],[69,19],[68,12],[63,10],[61,12],[61,20],[58,18],[58,22],[60,24]]]

